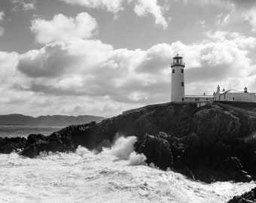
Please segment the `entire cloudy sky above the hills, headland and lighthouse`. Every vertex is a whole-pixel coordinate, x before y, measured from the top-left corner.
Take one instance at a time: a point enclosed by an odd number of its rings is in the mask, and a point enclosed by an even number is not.
[[[1,0],[0,114],[112,117],[185,94],[256,92],[255,0]]]

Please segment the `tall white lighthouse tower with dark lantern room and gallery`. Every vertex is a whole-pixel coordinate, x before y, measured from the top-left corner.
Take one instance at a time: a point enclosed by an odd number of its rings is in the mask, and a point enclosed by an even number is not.
[[[184,68],[185,64],[181,56],[173,57],[171,63],[172,68],[172,93],[171,102],[183,102],[184,101]]]

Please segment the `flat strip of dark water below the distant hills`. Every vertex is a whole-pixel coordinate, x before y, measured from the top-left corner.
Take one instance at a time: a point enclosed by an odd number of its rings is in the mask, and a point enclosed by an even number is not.
[[[50,135],[62,128],[59,126],[0,126],[0,137],[27,137],[30,134]]]

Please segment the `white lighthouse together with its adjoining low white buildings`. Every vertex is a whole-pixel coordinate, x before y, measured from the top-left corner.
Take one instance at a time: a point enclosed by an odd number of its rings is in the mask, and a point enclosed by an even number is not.
[[[171,102],[207,102],[207,101],[227,101],[227,102],[256,102],[254,92],[248,92],[245,86],[244,91],[235,89],[221,91],[220,86],[217,86],[217,92],[213,95],[185,95],[184,93],[184,67],[185,64],[181,56],[173,57],[171,63],[172,68],[172,93]]]

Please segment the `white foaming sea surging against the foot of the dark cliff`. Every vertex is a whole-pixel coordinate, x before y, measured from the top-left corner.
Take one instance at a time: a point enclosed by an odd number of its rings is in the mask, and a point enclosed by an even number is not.
[[[80,146],[75,153],[41,153],[35,159],[0,154],[0,202],[223,203],[256,186],[209,184],[162,171],[135,153],[135,142],[134,136],[120,137],[102,153]]]

